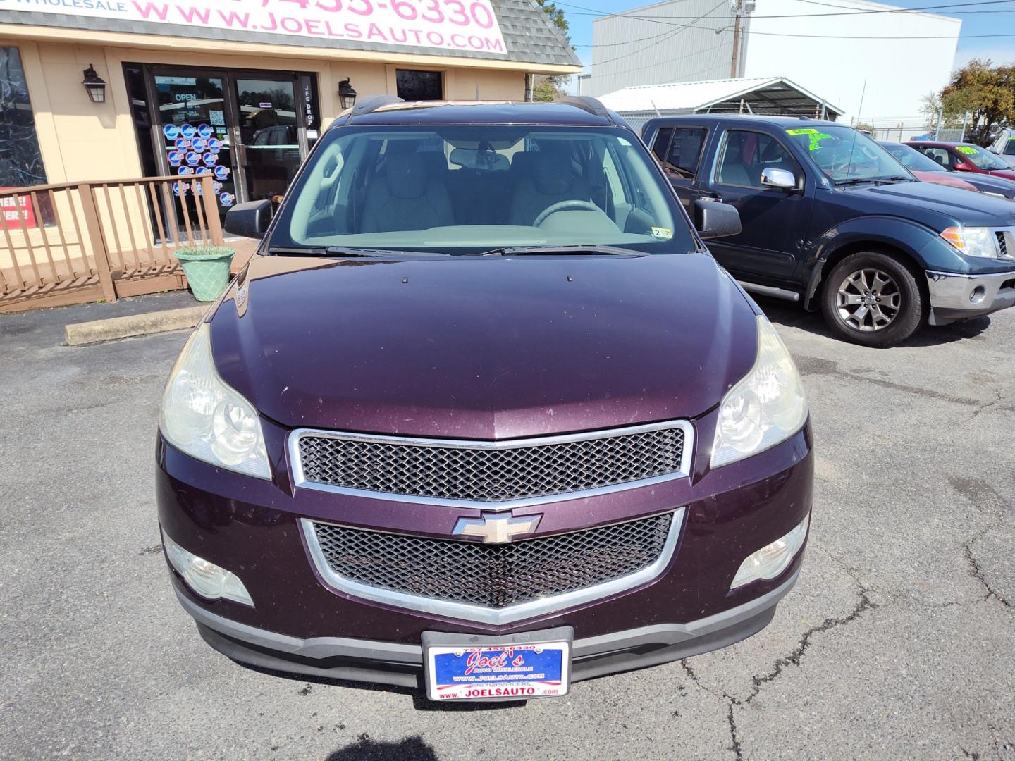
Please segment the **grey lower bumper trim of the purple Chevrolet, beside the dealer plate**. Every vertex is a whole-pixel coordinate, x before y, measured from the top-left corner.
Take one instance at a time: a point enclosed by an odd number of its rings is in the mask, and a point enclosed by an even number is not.
[[[779,586],[736,608],[688,623],[664,623],[576,639],[571,681],[678,661],[746,639],[763,629],[793,589],[799,566]],[[423,689],[420,644],[351,637],[286,636],[232,621],[193,603],[175,586],[204,640],[222,654],[260,669]]]

